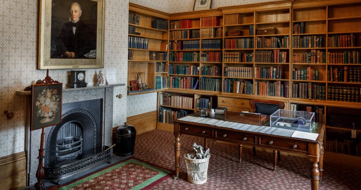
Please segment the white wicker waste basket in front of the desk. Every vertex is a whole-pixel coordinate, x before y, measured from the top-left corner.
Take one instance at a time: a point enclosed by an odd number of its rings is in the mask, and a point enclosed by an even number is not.
[[[188,182],[192,184],[204,184],[207,182],[207,170],[209,157],[203,159],[190,159],[184,154],[185,166],[187,167]]]

